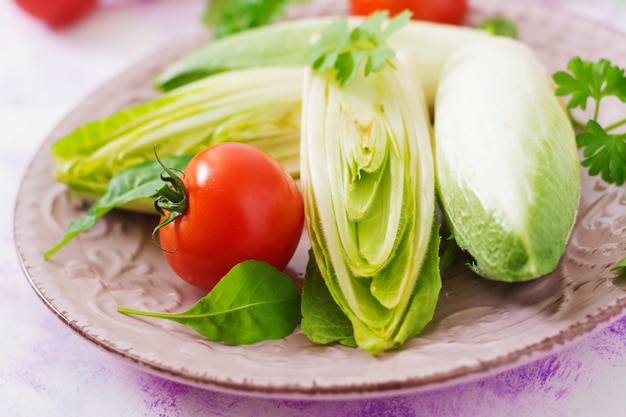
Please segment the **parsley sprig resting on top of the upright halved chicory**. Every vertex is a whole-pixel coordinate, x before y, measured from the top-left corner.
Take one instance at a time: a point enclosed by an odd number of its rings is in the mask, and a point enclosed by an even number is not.
[[[387,17],[387,11],[373,13],[352,30],[345,18],[331,23],[322,31],[317,42],[307,49],[306,63],[319,72],[334,68],[337,81],[342,86],[354,80],[363,62],[365,76],[387,65],[393,66],[391,60],[396,54],[385,45],[385,41],[408,23],[411,13],[400,13],[384,26]]]

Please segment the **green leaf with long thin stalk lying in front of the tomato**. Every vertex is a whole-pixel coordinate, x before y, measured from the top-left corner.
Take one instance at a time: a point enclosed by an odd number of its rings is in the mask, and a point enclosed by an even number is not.
[[[185,312],[158,313],[123,307],[118,311],[175,321],[209,340],[233,345],[285,337],[301,319],[300,293],[291,278],[254,260],[235,265]]]

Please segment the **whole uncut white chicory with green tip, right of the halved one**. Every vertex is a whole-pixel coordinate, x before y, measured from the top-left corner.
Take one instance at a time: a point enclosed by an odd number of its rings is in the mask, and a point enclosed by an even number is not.
[[[546,74],[529,47],[493,37],[457,51],[441,77],[439,199],[453,238],[486,278],[552,272],[578,211],[574,131]]]

